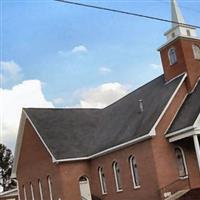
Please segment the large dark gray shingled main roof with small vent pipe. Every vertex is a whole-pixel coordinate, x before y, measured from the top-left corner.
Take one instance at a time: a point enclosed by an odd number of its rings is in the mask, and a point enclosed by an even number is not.
[[[182,78],[160,76],[104,109],[24,110],[56,159],[90,156],[148,134]]]

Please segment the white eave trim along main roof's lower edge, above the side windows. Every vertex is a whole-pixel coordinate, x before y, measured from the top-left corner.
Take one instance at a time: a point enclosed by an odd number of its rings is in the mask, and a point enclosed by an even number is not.
[[[106,154],[108,154],[108,153],[111,153],[111,152],[114,152],[114,151],[123,149],[123,148],[128,147],[128,146],[130,146],[130,145],[132,145],[132,144],[136,144],[136,143],[139,143],[139,142],[148,140],[148,139],[150,139],[150,138],[152,138],[152,136],[151,136],[150,134],[147,134],[147,135],[141,136],[141,137],[139,137],[139,138],[136,138],[136,139],[134,139],[134,140],[125,142],[125,143],[123,143],[123,144],[120,144],[120,145],[111,147],[111,148],[109,148],[109,149],[106,149],[106,150],[104,150],[104,151],[98,152],[98,153],[96,153],[96,154],[90,155],[90,156],[80,157],[80,158],[58,159],[58,160],[55,160],[54,162],[60,163],[60,162],[67,162],[67,161],[69,162],[69,161],[80,161],[80,160],[95,159],[95,158],[97,158],[97,157],[100,157],[100,156],[106,155]]]

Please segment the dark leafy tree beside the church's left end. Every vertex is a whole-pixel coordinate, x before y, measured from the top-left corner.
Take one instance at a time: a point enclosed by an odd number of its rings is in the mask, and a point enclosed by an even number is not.
[[[11,179],[12,165],[12,151],[5,145],[0,144],[0,186],[2,186],[3,191],[16,187],[16,181]]]

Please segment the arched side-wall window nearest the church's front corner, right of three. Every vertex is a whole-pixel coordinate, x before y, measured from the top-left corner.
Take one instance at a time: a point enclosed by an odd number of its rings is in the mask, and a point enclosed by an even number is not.
[[[140,180],[139,180],[136,158],[134,156],[130,156],[129,163],[130,163],[131,175],[132,175],[132,179],[133,179],[133,186],[134,186],[134,188],[139,188]]]

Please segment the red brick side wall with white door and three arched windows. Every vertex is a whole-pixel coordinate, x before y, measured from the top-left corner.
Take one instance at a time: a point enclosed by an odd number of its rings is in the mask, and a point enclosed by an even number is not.
[[[140,189],[133,188],[131,171],[128,158],[136,156],[140,176]],[[90,181],[91,193],[105,200],[125,200],[133,197],[140,200],[159,199],[157,179],[150,141],[136,144],[132,147],[110,153],[106,156],[91,161],[66,162],[59,164],[59,171],[62,174],[61,187],[65,191],[62,199],[80,200],[79,178],[87,176]],[[112,163],[116,160],[120,164],[123,191],[116,192]],[[98,168],[102,166],[106,176],[107,191],[102,195]],[[149,181],[149,179],[151,181]],[[148,194],[148,195],[147,195]]]

